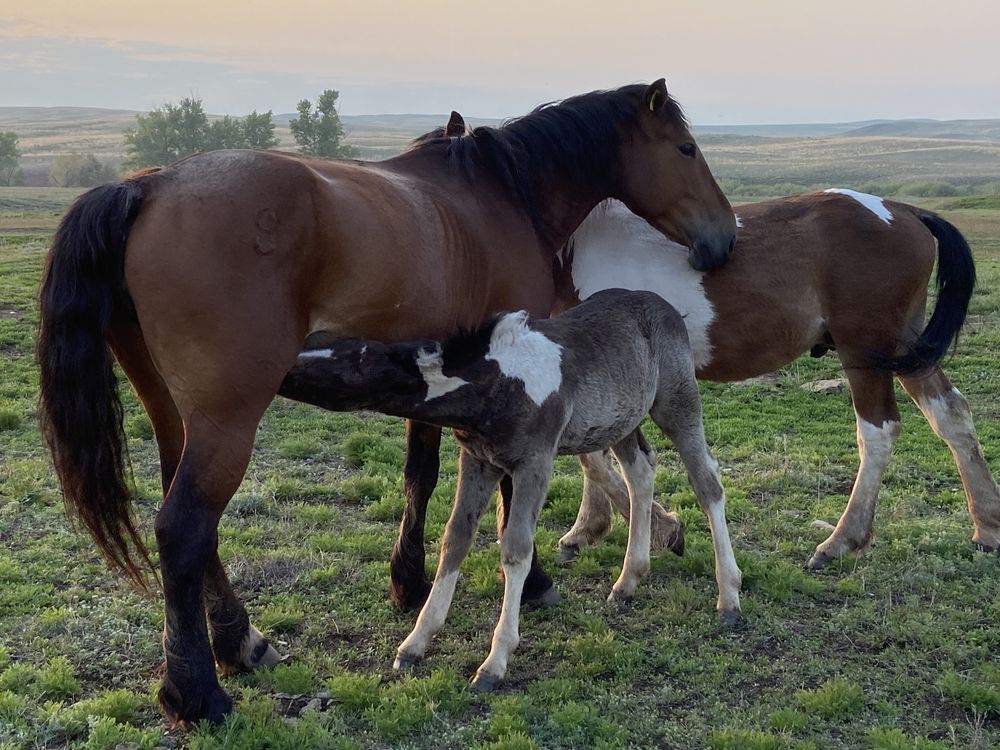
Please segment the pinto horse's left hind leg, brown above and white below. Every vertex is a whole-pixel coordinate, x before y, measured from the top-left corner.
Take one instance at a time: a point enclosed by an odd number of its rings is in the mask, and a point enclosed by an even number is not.
[[[861,465],[851,499],[829,538],[816,547],[809,560],[812,570],[825,568],[847,553],[860,554],[871,545],[875,501],[882,475],[899,436],[899,410],[892,392],[892,376],[870,368],[847,368],[854,412],[858,423]]]

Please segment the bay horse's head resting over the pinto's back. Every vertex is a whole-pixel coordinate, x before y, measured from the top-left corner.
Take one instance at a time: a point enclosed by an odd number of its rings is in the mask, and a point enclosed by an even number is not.
[[[632,88],[632,87],[629,87]],[[677,102],[659,79],[635,87],[635,119],[623,122],[619,198],[675,242],[699,271],[725,263],[736,244],[736,217],[715,182]]]

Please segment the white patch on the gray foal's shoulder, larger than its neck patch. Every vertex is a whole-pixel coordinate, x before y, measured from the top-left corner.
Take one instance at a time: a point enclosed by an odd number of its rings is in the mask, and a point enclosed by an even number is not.
[[[562,385],[562,347],[528,328],[528,313],[507,313],[490,337],[486,359],[508,378],[524,383],[524,392],[539,406]]]

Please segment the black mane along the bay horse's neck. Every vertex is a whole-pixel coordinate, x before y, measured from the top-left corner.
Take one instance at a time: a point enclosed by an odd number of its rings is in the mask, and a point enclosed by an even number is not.
[[[613,165],[618,159],[620,129],[634,128],[645,84],[611,91],[592,91],[561,102],[542,104],[498,128],[480,126],[463,138],[438,135],[437,129],[417,138],[410,148],[442,146],[473,182],[486,169],[531,216],[542,234],[540,201],[551,179],[568,178],[610,195]],[[669,117],[687,126],[680,105],[668,97]]]

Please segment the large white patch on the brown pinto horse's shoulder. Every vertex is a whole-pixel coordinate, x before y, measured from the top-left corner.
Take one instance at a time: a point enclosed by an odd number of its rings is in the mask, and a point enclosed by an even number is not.
[[[712,361],[708,331],[715,310],[705,274],[688,263],[688,249],[671,242],[623,203],[607,201],[573,235],[573,285],[581,300],[602,289],[655,292],[684,316],[696,367]]]

